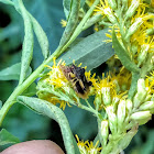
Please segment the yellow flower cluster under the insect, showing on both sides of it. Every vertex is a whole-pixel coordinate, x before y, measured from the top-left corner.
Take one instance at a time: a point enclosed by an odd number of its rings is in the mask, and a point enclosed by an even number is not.
[[[66,105],[69,106],[73,101],[79,101],[80,98],[74,88],[76,84],[68,80],[62,72],[62,66],[65,65],[66,64],[62,61],[56,65],[54,58],[53,67],[46,66],[51,70],[38,81],[37,85],[37,96],[40,98],[45,99],[53,105],[59,103],[63,109],[65,109]],[[91,86],[87,95],[102,95],[100,108],[107,105],[107,96],[110,98],[110,102],[116,98],[120,99],[123,96],[127,96],[127,92],[124,91],[129,90],[131,82],[131,74],[124,68],[122,68],[118,75],[109,73],[107,77],[105,77],[105,74],[102,74],[102,78],[96,77],[96,74],[91,76],[90,72],[85,72],[85,77],[88,81],[91,81]]]

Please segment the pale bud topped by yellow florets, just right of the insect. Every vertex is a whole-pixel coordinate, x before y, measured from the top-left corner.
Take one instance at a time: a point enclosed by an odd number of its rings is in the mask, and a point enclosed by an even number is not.
[[[111,103],[110,88],[102,87],[101,92],[102,92],[102,100],[103,100],[105,106],[110,105]]]

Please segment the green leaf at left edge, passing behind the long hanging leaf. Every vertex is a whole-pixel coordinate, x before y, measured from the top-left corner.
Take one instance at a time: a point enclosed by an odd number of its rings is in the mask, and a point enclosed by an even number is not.
[[[4,68],[0,72],[0,80],[19,80],[21,70],[21,63],[16,63],[8,68]],[[29,76],[32,73],[31,67],[26,73]]]

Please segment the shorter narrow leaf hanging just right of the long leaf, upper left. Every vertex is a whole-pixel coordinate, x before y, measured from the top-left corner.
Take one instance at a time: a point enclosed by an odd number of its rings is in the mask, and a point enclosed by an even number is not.
[[[29,15],[31,18],[38,44],[41,46],[42,54],[43,54],[44,58],[46,59],[50,56],[50,44],[48,44],[47,36],[46,36],[45,32],[43,31],[42,26],[35,20],[35,18],[33,18],[30,13],[29,13]]]

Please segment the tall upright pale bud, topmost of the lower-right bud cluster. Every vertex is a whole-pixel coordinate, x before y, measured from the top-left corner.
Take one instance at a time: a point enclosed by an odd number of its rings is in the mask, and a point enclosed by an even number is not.
[[[138,92],[133,98],[134,108],[138,108],[145,100],[146,95],[145,81],[143,78],[140,78],[138,80]]]

